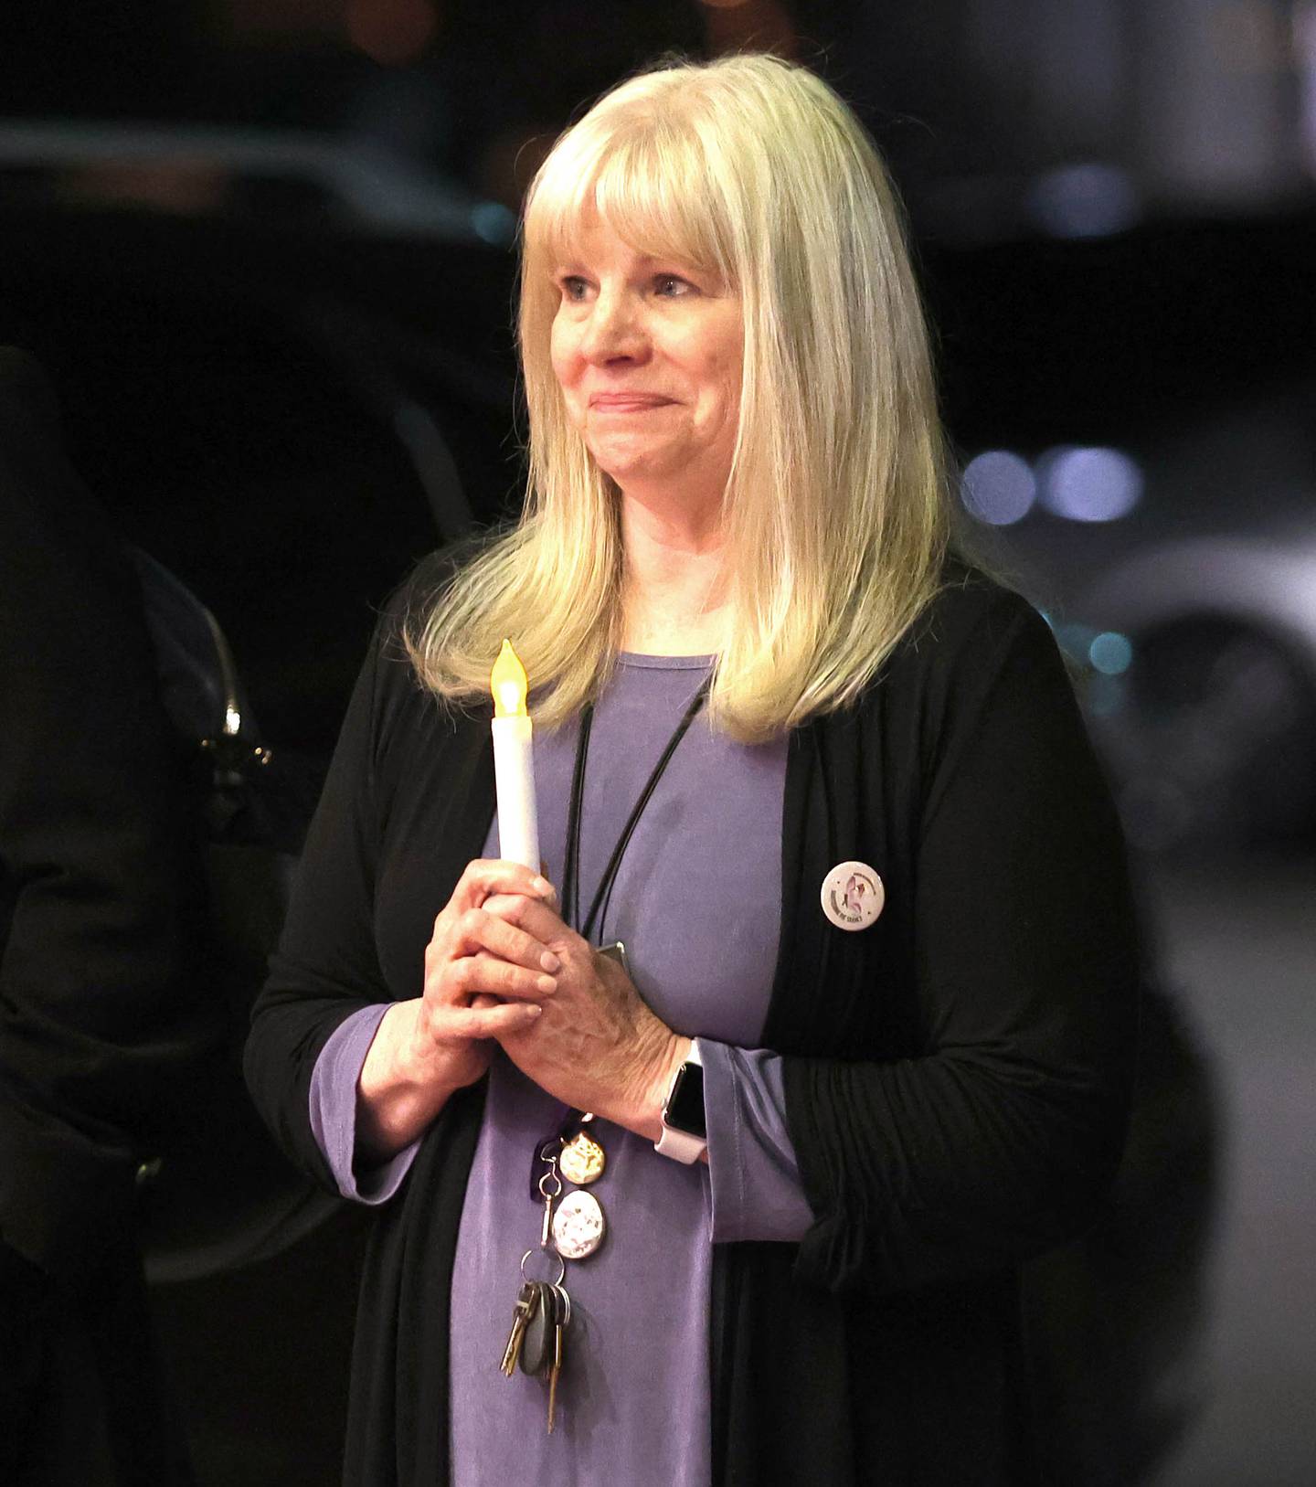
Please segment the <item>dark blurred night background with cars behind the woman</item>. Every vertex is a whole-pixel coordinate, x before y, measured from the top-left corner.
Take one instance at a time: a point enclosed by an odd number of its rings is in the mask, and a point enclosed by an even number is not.
[[[1138,1477],[1306,1484],[1316,6],[9,0],[0,341],[220,619],[265,741],[323,758],[373,607],[515,509],[535,164],[633,67],[736,48],[819,70],[883,149],[967,531],[1051,619],[1139,854],[1196,1096],[1138,1155],[1209,1160],[1191,1222],[1152,1193],[1139,1225],[1185,1239],[1124,1297],[1167,1422]],[[158,1283],[205,1481],[333,1480],[358,1228]]]

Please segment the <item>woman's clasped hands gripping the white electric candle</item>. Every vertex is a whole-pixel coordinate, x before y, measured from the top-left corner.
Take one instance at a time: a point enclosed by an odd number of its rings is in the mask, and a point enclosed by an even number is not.
[[[390,1008],[361,1071],[372,1154],[413,1141],[483,1075],[495,1042],[555,1099],[654,1141],[690,1045],[562,920],[544,877],[476,859],[434,920],[421,996]]]

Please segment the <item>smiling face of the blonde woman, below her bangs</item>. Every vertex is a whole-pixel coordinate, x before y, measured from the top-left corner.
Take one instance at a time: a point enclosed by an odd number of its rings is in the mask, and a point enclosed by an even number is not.
[[[741,407],[738,296],[596,216],[555,280],[553,372],[599,467],[641,500],[720,501]]]

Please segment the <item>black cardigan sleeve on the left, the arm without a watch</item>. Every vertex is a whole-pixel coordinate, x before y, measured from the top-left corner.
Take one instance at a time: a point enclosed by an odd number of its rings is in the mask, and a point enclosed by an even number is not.
[[[311,1121],[315,1062],[335,1029],[391,1001],[375,950],[378,733],[385,619],[357,680],[306,834],[269,978],[251,1013],[247,1087],[275,1141],[303,1172],[338,1191]]]

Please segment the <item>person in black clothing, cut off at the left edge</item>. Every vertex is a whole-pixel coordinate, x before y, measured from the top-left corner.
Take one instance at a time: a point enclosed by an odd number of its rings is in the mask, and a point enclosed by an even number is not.
[[[0,1481],[190,1481],[138,1178],[205,1045],[196,845],[134,570],[0,349]]]

